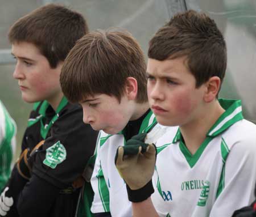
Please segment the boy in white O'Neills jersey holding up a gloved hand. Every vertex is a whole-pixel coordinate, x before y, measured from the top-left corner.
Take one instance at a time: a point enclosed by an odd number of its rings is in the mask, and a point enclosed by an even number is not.
[[[231,216],[254,200],[256,126],[243,119],[240,100],[217,100],[226,70],[224,38],[207,15],[187,11],[149,45],[150,107],[159,124],[173,127],[143,154],[123,158],[118,148],[116,165],[129,185],[133,216]]]

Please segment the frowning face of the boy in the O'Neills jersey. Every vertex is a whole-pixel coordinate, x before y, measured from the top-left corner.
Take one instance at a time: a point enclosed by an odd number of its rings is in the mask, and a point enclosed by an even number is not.
[[[195,120],[203,107],[204,85],[185,66],[185,57],[158,61],[148,59],[148,101],[162,125],[182,126]]]

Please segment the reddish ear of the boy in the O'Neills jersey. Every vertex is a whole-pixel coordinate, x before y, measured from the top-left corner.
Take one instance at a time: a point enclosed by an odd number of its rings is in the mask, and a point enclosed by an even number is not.
[[[205,84],[206,90],[204,94],[204,101],[206,103],[210,103],[216,96],[218,95],[218,91],[220,90],[221,80],[218,76],[211,77],[208,82]]]

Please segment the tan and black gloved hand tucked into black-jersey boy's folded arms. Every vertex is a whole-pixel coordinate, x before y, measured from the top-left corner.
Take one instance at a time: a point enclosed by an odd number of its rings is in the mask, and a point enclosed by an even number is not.
[[[22,154],[19,156],[19,159],[16,163],[19,174],[26,178],[27,180],[31,177],[32,164],[35,160],[35,154],[38,149],[43,145],[44,140],[36,144],[32,151],[29,148],[26,148]]]

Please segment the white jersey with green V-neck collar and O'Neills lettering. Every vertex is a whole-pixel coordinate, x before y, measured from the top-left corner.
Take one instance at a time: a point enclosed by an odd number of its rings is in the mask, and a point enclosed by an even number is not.
[[[229,217],[254,200],[256,125],[242,117],[241,101],[220,100],[225,109],[194,155],[179,127],[157,144],[155,193],[159,216]]]

